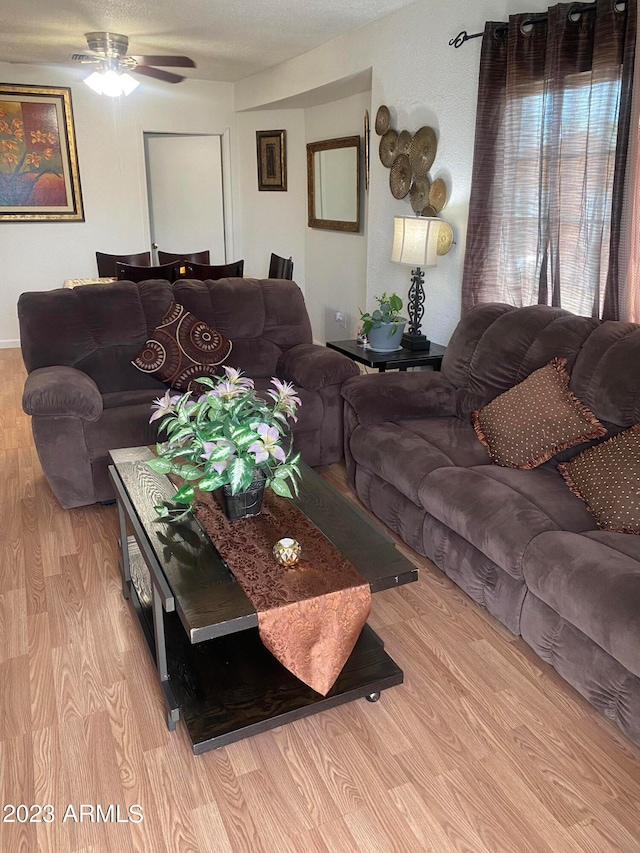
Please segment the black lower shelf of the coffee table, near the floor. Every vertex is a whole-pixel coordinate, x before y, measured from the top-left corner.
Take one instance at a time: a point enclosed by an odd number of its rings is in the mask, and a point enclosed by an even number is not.
[[[155,659],[148,609],[131,603]],[[169,678],[161,682],[173,728],[184,722],[195,755],[402,684],[402,670],[365,625],[344,669],[321,696],[283,667],[251,628],[192,645],[176,613],[164,614]]]

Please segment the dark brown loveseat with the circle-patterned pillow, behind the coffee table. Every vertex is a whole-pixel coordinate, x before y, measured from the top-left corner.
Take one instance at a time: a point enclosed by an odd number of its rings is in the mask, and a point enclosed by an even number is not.
[[[20,343],[28,371],[23,407],[47,480],[65,507],[113,497],[108,452],[152,444],[152,401],[166,386],[137,370],[134,358],[172,300],[233,343],[227,364],[266,388],[272,376],[295,384],[302,407],[293,425],[309,465],[343,455],[348,358],[317,346],[294,282],[272,279],[117,282],[23,293]]]

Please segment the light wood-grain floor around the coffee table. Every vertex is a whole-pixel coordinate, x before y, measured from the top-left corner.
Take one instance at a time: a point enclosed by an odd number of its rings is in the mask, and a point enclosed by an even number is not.
[[[402,686],[194,757],[121,596],[115,509],[59,508],[18,350],[0,374],[1,801],[55,814],[1,822],[1,853],[638,853],[640,749],[406,548],[420,581],[371,619]]]

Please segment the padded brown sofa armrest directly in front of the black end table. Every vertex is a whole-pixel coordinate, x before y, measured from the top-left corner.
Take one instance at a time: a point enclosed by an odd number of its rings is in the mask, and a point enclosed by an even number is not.
[[[456,389],[442,373],[371,373],[347,380],[342,396],[361,424],[456,413]]]

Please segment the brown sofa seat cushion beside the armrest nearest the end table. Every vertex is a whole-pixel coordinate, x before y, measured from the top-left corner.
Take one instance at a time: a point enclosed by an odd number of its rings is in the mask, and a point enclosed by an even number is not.
[[[407,418],[358,426],[349,443],[357,463],[420,506],[420,486],[430,471],[453,465],[489,467],[471,425],[454,416]]]

